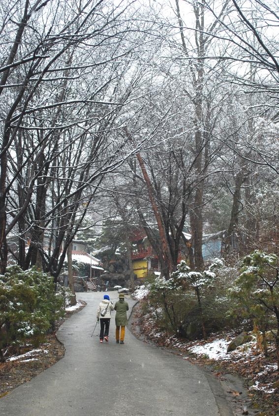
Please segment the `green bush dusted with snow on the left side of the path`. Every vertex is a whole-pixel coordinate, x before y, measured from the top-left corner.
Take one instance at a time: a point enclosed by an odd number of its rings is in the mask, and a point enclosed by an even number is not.
[[[7,268],[0,276],[0,358],[1,350],[23,339],[34,344],[63,314],[62,293],[55,293],[53,278],[35,268],[23,271]]]

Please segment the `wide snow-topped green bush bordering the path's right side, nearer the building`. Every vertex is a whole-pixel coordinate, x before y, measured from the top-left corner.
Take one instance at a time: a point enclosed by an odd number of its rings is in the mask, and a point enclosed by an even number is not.
[[[224,277],[229,274],[228,279]],[[203,271],[192,271],[184,260],[169,280],[150,278],[146,311],[150,310],[159,329],[190,339],[206,336],[229,324],[227,285],[236,271],[215,258]]]

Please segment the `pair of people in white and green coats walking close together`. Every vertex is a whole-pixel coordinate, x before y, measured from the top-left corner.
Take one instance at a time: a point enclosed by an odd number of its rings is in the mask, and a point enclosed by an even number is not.
[[[103,342],[103,339],[108,342],[111,311],[115,310],[116,342],[117,344],[124,344],[125,326],[128,322],[127,311],[129,310],[128,303],[124,299],[124,293],[120,293],[119,300],[116,302],[115,306],[113,305],[113,302],[111,302],[109,295],[104,295],[104,299],[100,302],[97,310],[97,321],[100,320],[101,325],[100,343]]]

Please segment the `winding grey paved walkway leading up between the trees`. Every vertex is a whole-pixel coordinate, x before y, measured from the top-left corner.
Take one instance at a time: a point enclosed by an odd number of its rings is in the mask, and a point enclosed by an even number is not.
[[[99,343],[99,326],[91,337],[103,293],[78,295],[88,305],[58,331],[64,358],[0,399],[1,416],[223,416],[198,366],[127,329],[125,344],[116,344],[114,319],[109,343]],[[109,295],[115,302],[117,292]]]

